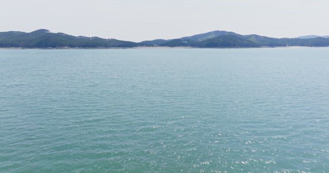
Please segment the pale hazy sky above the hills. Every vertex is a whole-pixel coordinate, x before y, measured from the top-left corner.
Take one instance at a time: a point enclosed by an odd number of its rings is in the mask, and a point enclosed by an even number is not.
[[[0,0],[0,31],[44,28],[141,41],[226,30],[329,35],[327,0]]]

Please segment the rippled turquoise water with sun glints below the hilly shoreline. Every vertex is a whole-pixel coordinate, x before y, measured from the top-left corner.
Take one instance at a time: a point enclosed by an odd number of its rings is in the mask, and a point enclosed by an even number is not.
[[[0,50],[0,172],[329,171],[329,48]]]

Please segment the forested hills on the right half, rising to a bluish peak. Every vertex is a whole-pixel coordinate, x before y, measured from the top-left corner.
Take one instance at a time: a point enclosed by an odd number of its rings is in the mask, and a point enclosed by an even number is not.
[[[157,46],[198,47],[198,48],[250,48],[250,47],[286,47],[286,46],[329,46],[329,38],[271,38],[261,35],[241,35],[227,31],[212,31],[188,37],[162,40]]]

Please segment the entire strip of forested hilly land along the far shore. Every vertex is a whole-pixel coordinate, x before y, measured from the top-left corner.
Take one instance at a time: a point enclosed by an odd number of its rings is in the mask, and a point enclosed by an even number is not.
[[[271,38],[261,35],[241,35],[228,31],[212,31],[176,39],[155,39],[141,42],[72,36],[40,29],[30,33],[0,32],[0,48],[134,48],[134,47],[191,47],[191,48],[261,48],[261,47],[327,47],[329,36],[308,35],[297,38]]]

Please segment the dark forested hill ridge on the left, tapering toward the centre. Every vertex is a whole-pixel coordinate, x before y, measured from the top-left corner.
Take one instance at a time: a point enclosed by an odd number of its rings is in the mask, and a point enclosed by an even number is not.
[[[2,48],[131,48],[139,44],[117,39],[99,37],[72,36],[64,33],[51,33],[40,29],[30,33],[9,31],[0,32],[0,47]]]

